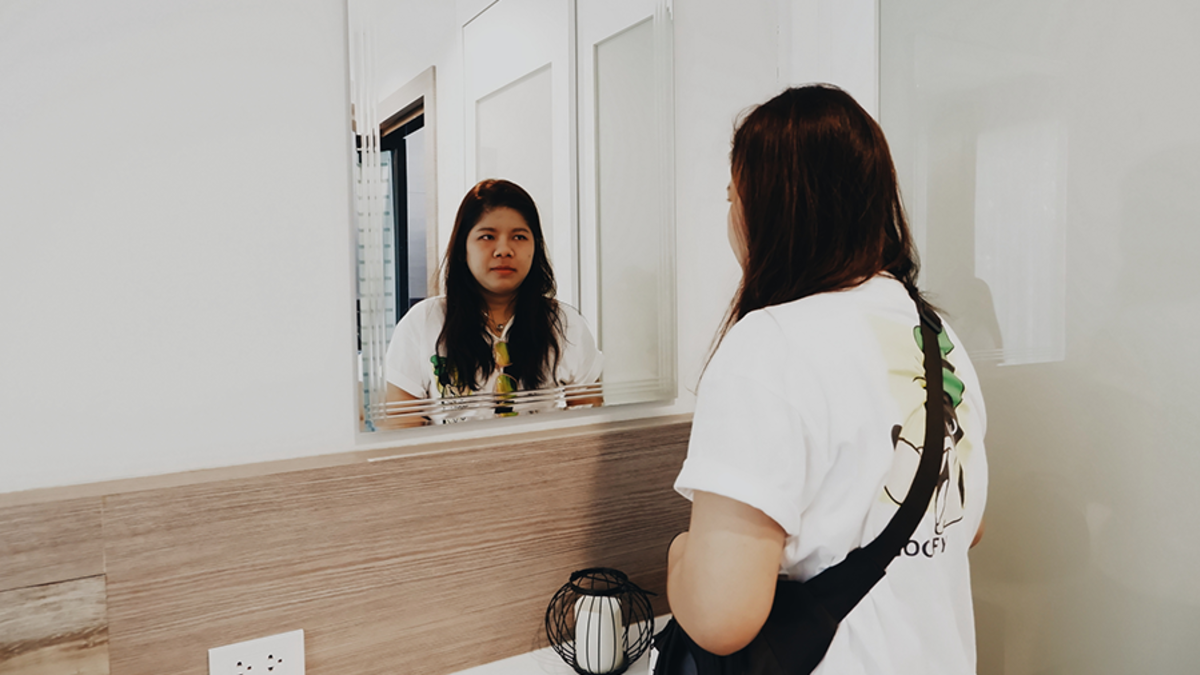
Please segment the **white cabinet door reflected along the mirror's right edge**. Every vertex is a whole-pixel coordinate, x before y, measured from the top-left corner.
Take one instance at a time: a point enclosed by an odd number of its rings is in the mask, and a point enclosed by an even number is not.
[[[605,353],[605,400],[644,399],[674,359],[670,310],[670,115],[662,115],[664,6],[577,0],[580,267],[584,316]],[[658,14],[658,16],[656,16]],[[656,23],[658,20],[658,23]],[[667,387],[670,388],[670,387]]]

